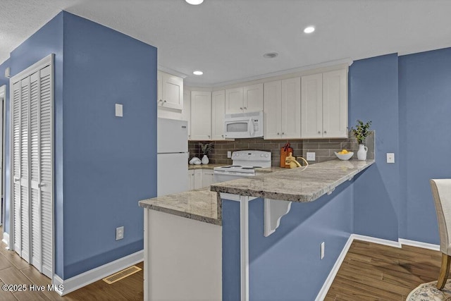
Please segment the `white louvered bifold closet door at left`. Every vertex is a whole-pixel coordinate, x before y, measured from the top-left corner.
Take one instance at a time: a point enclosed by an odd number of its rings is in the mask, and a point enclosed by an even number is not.
[[[13,84],[14,249],[53,274],[51,66]]]

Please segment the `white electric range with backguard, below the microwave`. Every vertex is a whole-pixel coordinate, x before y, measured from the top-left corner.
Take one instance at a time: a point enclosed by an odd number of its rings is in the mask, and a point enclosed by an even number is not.
[[[215,167],[214,182],[256,176],[256,169],[271,167],[271,152],[242,150],[232,153],[232,165]]]

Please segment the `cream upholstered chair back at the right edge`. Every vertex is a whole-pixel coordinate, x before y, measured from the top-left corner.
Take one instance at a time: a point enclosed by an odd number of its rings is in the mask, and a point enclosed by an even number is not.
[[[437,213],[440,251],[451,255],[451,179],[431,179],[429,182]]]

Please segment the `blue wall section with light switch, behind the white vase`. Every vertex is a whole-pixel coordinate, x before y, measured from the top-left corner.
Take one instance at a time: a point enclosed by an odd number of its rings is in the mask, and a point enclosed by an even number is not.
[[[349,69],[349,125],[372,121],[375,159],[354,183],[354,233],[398,238],[400,208],[397,54],[354,61]],[[387,164],[386,153],[395,153]]]

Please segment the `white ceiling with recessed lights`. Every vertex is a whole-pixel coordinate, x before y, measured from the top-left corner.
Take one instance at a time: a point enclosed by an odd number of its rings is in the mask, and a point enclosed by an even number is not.
[[[61,10],[154,45],[159,66],[194,87],[451,47],[450,0],[1,0],[0,62]]]

